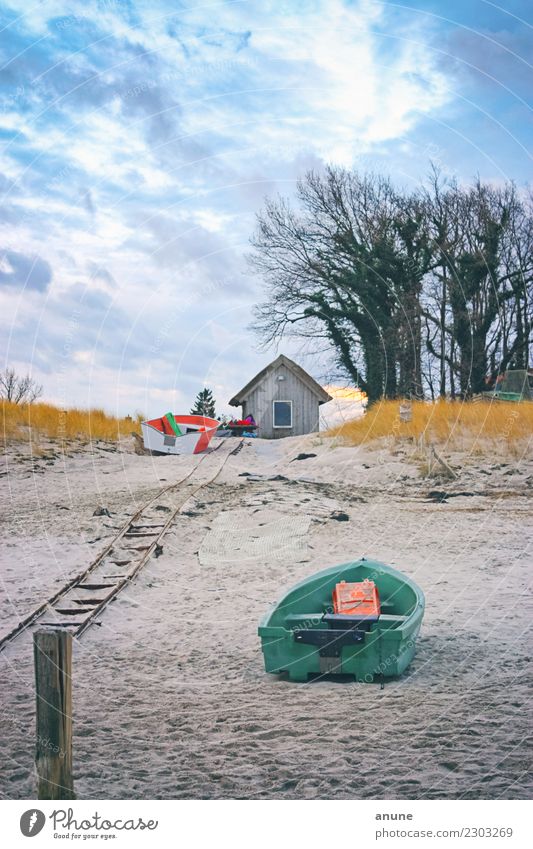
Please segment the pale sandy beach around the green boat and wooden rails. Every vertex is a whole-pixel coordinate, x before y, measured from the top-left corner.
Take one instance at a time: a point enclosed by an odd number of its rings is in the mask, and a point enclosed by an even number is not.
[[[191,499],[161,556],[75,643],[78,798],[530,794],[533,462],[449,455],[450,482],[424,478],[412,452],[317,435],[245,440]],[[1,634],[197,462],[138,456],[128,440],[73,442],[65,454],[50,443],[40,455],[14,444],[3,458]],[[93,515],[102,506],[110,516]],[[264,530],[287,521],[294,533],[281,541]],[[296,581],[362,555],[426,594],[408,672],[383,690],[266,675],[264,613]],[[0,667],[0,792],[34,798],[29,636]]]

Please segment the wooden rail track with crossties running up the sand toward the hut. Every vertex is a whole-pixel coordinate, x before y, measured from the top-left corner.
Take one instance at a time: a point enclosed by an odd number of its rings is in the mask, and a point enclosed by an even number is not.
[[[214,475],[199,483],[195,481],[194,476],[202,463],[223,448],[227,441],[225,439],[214,450],[203,454],[185,477],[163,487],[143,504],[83,572],[63,584],[51,598],[0,638],[0,651],[22,633],[37,627],[67,628],[73,636],[80,637],[118,593],[133,581],[150,557],[157,553],[165,533],[185,504],[201,489],[214,483],[228,458],[242,447],[242,440],[239,439],[235,448],[223,452],[223,461]],[[189,484],[183,492],[181,488],[187,481]],[[178,496],[177,501],[173,498],[175,494]],[[161,512],[168,514],[164,521]]]

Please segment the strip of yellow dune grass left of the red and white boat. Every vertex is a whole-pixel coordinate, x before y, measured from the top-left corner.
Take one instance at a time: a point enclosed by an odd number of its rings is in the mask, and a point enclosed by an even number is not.
[[[139,430],[136,419],[115,418],[103,410],[61,410],[52,404],[13,404],[2,401],[2,435],[8,439],[38,442],[39,438],[59,441],[96,439],[115,442]]]

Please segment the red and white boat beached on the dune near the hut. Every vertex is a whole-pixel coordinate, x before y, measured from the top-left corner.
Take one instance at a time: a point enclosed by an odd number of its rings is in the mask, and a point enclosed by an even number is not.
[[[201,454],[217,432],[220,422],[207,416],[175,416],[141,422],[144,447],[161,454]]]

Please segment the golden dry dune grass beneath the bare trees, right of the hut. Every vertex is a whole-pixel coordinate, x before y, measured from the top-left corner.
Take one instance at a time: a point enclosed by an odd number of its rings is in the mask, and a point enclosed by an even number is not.
[[[434,443],[448,450],[486,453],[508,449],[522,454],[533,434],[533,404],[493,401],[414,401],[412,420],[402,421],[400,405],[409,402],[381,401],[361,419],[330,431],[350,445],[389,438],[393,442]]]

